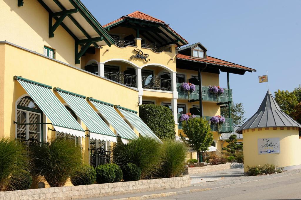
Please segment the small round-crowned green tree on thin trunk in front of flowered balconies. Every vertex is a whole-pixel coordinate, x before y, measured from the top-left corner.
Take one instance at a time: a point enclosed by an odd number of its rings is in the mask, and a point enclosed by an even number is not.
[[[200,151],[208,151],[213,141],[213,134],[209,123],[203,117],[190,118],[182,122],[183,132],[185,137],[180,134],[182,141],[190,146],[192,150],[197,151],[199,157]],[[197,158],[199,166],[199,159]]]

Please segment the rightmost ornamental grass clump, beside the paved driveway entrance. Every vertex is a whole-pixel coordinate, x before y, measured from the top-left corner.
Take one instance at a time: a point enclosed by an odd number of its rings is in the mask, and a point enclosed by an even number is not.
[[[167,140],[161,145],[163,160],[161,177],[177,177],[185,171],[187,146],[181,141]]]

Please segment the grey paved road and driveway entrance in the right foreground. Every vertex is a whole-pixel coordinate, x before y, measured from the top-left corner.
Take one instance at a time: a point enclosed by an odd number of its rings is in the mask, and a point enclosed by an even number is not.
[[[162,199],[301,199],[301,169],[265,176],[243,176],[243,168],[191,174],[189,187],[141,192],[127,195],[89,198],[86,200],[110,200],[139,197],[165,192],[181,192],[195,189],[216,188],[202,192],[162,197]],[[206,180],[200,181],[201,179]]]

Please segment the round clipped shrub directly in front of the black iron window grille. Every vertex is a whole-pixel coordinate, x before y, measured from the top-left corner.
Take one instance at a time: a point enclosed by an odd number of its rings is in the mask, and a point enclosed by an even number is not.
[[[112,183],[115,179],[114,169],[110,165],[99,165],[95,168],[97,183]]]

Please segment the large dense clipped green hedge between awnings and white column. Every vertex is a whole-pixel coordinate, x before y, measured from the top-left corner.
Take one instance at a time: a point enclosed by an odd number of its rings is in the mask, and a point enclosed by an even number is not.
[[[175,120],[168,107],[154,104],[140,105],[139,117],[158,138],[175,138]]]

